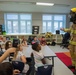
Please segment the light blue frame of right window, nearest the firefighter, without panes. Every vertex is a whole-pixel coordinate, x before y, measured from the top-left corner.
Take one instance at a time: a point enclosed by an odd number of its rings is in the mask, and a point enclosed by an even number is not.
[[[51,29],[51,32],[53,33],[53,34],[55,34],[55,30],[54,30],[54,22],[58,22],[58,30],[60,30],[60,22],[62,22],[62,27],[61,28],[65,28],[65,26],[66,26],[66,15],[65,14],[50,14],[51,16],[52,16],[52,20],[43,20],[43,16],[46,16],[46,15],[48,15],[49,16],[49,14],[43,14],[42,15],[42,22],[46,22],[46,32],[48,32],[47,31],[47,22],[49,22],[49,21],[51,21],[52,22],[52,29]],[[63,20],[54,20],[54,17],[55,16],[62,16],[63,17]],[[46,33],[46,32],[44,32],[43,31],[43,23],[42,23],[42,33]],[[60,33],[61,34],[64,34],[64,32],[63,31],[60,31]]]

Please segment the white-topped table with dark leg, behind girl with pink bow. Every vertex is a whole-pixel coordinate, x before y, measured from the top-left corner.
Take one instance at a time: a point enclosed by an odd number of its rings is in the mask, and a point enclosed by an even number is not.
[[[32,48],[31,45],[29,45],[28,47],[23,47],[23,53],[26,57],[31,57],[31,53],[32,53]],[[46,46],[42,46],[41,47],[41,52],[43,53],[45,58],[52,58],[52,64],[54,66],[54,57],[56,57],[56,54],[46,45]]]

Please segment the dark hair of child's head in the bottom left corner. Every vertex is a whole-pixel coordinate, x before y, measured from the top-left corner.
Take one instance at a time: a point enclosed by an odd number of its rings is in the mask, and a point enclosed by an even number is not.
[[[9,62],[0,64],[0,75],[13,75],[13,66]]]

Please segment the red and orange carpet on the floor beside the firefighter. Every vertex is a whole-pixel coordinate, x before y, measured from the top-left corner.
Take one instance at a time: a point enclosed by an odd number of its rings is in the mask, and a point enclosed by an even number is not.
[[[72,65],[71,56],[69,52],[60,52],[56,53],[57,57],[66,65]],[[71,71],[74,71],[74,69],[71,69]]]

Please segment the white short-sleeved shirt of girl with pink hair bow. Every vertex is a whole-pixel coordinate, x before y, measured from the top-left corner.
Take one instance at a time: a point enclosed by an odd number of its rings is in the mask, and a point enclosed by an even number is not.
[[[35,60],[35,67],[43,66],[42,59],[44,58],[41,52],[33,51],[34,60]]]

